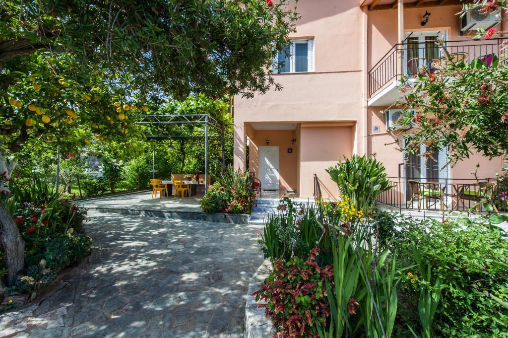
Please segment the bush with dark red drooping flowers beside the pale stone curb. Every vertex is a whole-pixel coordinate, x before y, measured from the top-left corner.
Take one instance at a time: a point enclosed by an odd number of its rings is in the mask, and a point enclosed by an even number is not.
[[[258,305],[266,308],[278,335],[282,337],[318,337],[317,326],[327,325],[330,304],[326,281],[333,286],[333,266],[321,269],[316,258],[319,249],[312,249],[304,261],[298,258],[283,263],[273,262],[273,273],[261,289],[254,292]]]

